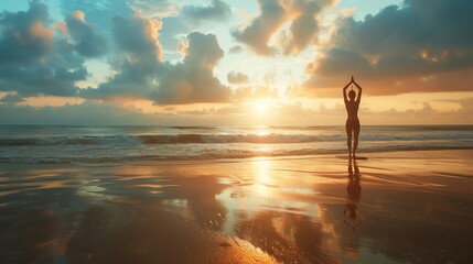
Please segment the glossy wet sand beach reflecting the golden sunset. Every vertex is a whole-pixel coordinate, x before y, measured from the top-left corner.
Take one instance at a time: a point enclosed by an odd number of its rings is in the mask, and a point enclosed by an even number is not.
[[[473,151],[363,156],[0,164],[0,260],[470,263]]]

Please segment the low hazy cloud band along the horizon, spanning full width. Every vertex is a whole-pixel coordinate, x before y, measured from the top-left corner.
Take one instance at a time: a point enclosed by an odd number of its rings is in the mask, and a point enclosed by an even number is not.
[[[256,98],[257,99],[257,98]],[[258,102],[258,101],[256,101]],[[453,101],[452,101],[453,102]],[[367,124],[467,124],[473,122],[473,98],[455,100],[458,110],[439,111],[429,102],[420,102],[419,108],[386,111],[361,109],[362,125]],[[75,124],[75,125],[118,125],[150,124],[165,125],[258,125],[254,105],[244,101],[208,106],[204,109],[182,109],[166,107],[160,112],[143,113],[135,107],[123,107],[111,101],[86,100],[78,105],[62,107],[31,107],[0,101],[0,123],[2,124]],[[395,107],[395,106],[394,106]],[[307,125],[324,123],[338,125],[346,120],[342,103],[319,103],[318,108],[307,108],[299,101],[271,103],[270,114],[265,117],[268,125]],[[389,117],[389,119],[386,119]]]

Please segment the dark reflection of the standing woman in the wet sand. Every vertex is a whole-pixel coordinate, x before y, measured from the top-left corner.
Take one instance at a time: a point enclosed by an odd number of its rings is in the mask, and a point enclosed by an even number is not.
[[[363,216],[358,209],[359,197],[362,196],[362,186],[359,185],[359,169],[356,166],[356,162],[353,163],[355,173],[352,168],[352,160],[348,162],[348,185],[346,186],[346,193],[348,194],[348,202],[345,205],[343,211],[343,222],[353,228],[353,231],[363,223]]]

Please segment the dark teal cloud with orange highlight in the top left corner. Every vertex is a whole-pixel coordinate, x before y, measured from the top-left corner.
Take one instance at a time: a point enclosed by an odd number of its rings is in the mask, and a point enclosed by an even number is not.
[[[75,81],[88,75],[85,61],[53,30],[47,7],[32,1],[25,12],[0,16],[0,90],[23,97],[75,96]]]

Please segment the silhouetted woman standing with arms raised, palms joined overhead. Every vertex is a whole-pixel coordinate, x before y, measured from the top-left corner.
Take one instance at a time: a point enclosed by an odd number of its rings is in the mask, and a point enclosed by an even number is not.
[[[352,85],[352,90],[346,95],[348,86]],[[353,85],[358,88],[358,96],[353,90]],[[356,99],[355,99],[356,98]],[[356,148],[358,147],[358,135],[359,135],[359,120],[358,120],[358,108],[359,101],[362,100],[362,87],[356,84],[355,79],[352,76],[352,80],[343,88],[343,100],[345,101],[346,113],[348,118],[346,119],[346,144],[348,145],[348,156],[356,157]],[[352,152],[352,134],[353,134],[353,152]]]

